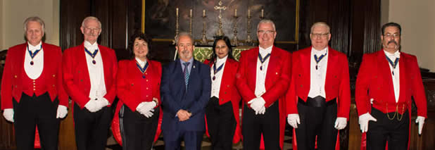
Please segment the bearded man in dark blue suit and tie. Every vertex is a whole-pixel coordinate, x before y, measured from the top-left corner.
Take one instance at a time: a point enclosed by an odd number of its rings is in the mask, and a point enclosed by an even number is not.
[[[163,67],[160,92],[165,149],[201,149],[206,125],[205,107],[210,99],[210,67],[194,60],[194,39],[187,32],[175,37],[179,59]]]

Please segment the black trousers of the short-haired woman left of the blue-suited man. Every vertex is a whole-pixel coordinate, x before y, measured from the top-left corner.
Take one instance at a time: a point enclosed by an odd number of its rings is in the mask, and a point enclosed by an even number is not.
[[[154,108],[153,116],[146,118],[123,105],[119,116],[122,133],[122,149],[151,149],[158,125],[160,108]]]

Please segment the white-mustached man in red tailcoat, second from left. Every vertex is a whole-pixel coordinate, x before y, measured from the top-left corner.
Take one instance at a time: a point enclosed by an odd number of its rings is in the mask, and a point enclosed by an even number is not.
[[[113,49],[96,42],[101,34],[98,18],[84,18],[80,30],[83,44],[63,52],[63,82],[73,100],[77,149],[103,150],[112,120],[118,61]]]

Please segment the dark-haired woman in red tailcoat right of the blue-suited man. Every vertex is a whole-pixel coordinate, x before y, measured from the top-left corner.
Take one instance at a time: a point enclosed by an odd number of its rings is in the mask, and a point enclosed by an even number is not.
[[[239,101],[241,96],[236,87],[239,62],[232,56],[228,37],[217,37],[213,43],[213,54],[204,63],[210,65],[212,88],[206,106],[208,134],[213,149],[232,149],[232,143],[240,140]]]

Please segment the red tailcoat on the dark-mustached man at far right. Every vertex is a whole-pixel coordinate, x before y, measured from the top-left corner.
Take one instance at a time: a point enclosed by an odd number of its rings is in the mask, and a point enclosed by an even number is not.
[[[427,118],[427,100],[417,58],[401,52],[398,67],[401,86],[398,102],[396,103],[391,70],[384,50],[363,56],[355,89],[358,115],[370,112],[372,107],[383,113],[395,112],[396,108],[400,114],[408,110],[410,115],[412,96],[417,106],[417,115]],[[372,106],[370,106],[370,99],[374,99]]]

